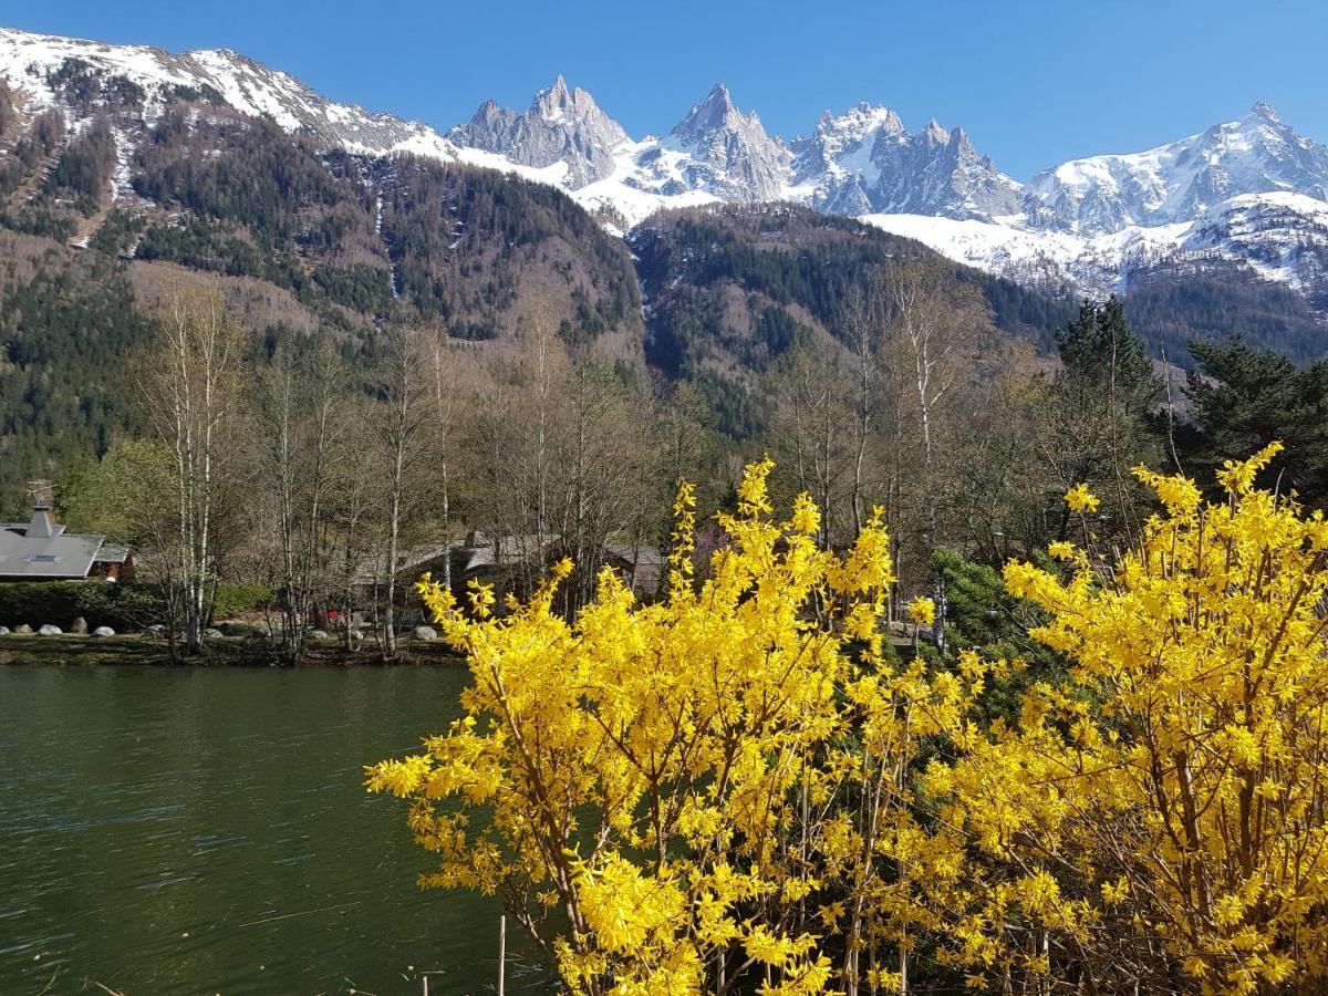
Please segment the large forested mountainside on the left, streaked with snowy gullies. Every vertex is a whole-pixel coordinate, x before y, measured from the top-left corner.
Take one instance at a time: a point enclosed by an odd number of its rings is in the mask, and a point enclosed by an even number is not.
[[[90,124],[24,118],[0,84],[0,507],[139,424],[137,351],[179,290],[220,291],[268,348],[328,335],[368,360],[385,323],[502,348],[538,312],[641,361],[628,252],[560,191],[324,153],[206,93],[145,126],[124,81],[70,65],[57,84]]]

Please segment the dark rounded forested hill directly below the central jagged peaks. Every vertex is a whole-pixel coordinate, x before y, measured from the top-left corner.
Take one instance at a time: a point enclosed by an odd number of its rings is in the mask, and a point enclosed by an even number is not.
[[[892,263],[940,259],[911,239],[789,205],[667,211],[628,242],[647,303],[647,356],[671,377],[697,381],[738,436],[768,416],[757,374],[794,347],[846,348],[849,296]],[[1068,300],[940,266],[981,293],[996,328],[1044,352],[1073,317]]]

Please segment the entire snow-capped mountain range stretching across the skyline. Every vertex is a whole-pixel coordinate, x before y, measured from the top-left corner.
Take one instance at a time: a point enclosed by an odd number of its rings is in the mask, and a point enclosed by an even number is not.
[[[1219,259],[1328,309],[1328,146],[1297,135],[1264,104],[1178,142],[1074,159],[1021,186],[961,129],[932,121],[910,131],[874,104],[826,112],[810,137],[786,145],[722,84],[667,135],[632,138],[562,77],[523,112],[487,101],[445,134],[331,101],[224,49],[171,54],[0,28],[0,77],[29,116],[56,108],[66,124],[101,113],[88,102],[90,84],[122,88],[134,109],[122,106],[114,122],[126,175],[146,126],[189,100],[268,117],[329,150],[517,173],[563,189],[616,232],[661,207],[790,201],[1065,292],[1106,293],[1158,264]],[[117,195],[129,190],[120,182]]]

